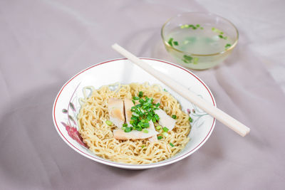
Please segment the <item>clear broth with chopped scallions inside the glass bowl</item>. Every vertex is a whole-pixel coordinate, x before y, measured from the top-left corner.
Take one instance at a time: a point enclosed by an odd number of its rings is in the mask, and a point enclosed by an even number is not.
[[[181,28],[182,26],[169,32],[166,36],[168,46],[165,46],[172,57],[181,65],[195,69],[206,69],[221,63],[229,56],[231,51],[227,51],[227,49],[232,46],[234,40],[227,33],[212,26],[200,27],[197,24],[194,26],[195,29]],[[227,51],[227,53],[219,53],[223,51]],[[187,54],[187,52],[195,56]]]

